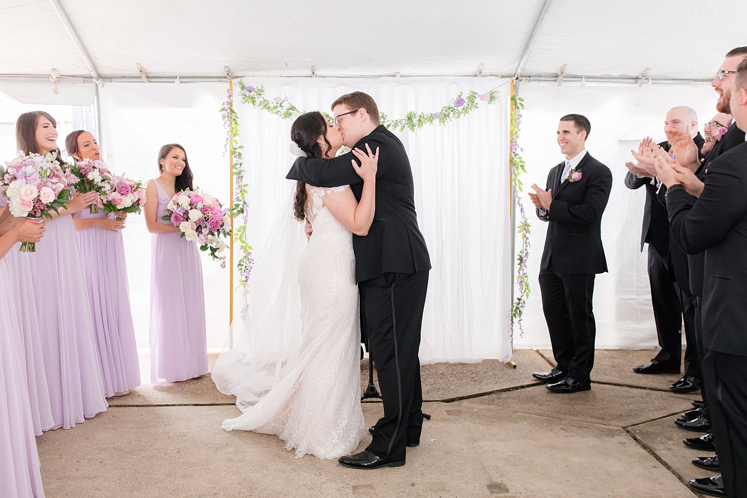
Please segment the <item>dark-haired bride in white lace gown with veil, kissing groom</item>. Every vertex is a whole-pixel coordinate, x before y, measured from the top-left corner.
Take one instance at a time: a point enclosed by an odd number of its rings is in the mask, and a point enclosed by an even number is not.
[[[298,117],[291,138],[300,149],[297,153],[314,158],[333,158],[342,147],[337,126],[320,112]],[[212,372],[218,389],[235,395],[242,412],[224,421],[223,428],[275,434],[286,448],[296,450],[297,457],[349,455],[365,432],[351,233],[367,235],[373,221],[379,151],[373,154],[368,144],[366,148],[368,153],[353,150],[361,162],[359,166],[352,161],[353,167],[364,180],[360,203],[348,185],[297,184],[294,216],[299,221],[308,219],[314,227],[298,262],[300,334],[288,331],[293,326],[278,318],[288,314],[288,303],[293,301],[290,292],[283,295],[280,289],[282,282],[277,280],[282,277],[267,275],[267,286],[260,288],[255,275],[252,316],[233,325],[241,328],[241,345],[221,354]],[[268,255],[273,256],[287,257]]]

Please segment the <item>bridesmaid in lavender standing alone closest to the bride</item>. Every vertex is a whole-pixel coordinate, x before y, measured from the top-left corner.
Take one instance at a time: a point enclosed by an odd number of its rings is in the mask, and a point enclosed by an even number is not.
[[[158,153],[161,176],[146,184],[145,221],[153,234],[150,272],[150,377],[179,382],[208,372],[202,263],[194,242],[162,220],[171,197],[192,185],[187,153],[167,144]]]

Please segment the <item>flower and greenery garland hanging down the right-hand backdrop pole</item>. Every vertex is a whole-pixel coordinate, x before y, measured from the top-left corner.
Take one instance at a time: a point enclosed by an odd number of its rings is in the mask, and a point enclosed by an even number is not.
[[[529,275],[527,274],[527,260],[529,259],[529,233],[530,225],[527,221],[527,213],[524,212],[524,204],[521,203],[519,193],[522,191],[524,183],[519,179],[521,173],[527,172],[527,165],[524,163],[524,159],[521,157],[521,152],[524,152],[521,147],[518,146],[518,135],[521,130],[521,110],[524,108],[524,99],[519,98],[516,95],[511,96],[511,128],[510,128],[510,147],[511,154],[509,156],[509,169],[511,171],[511,191],[513,198],[519,212],[518,226],[516,232],[521,235],[521,249],[517,255],[516,265],[516,283],[518,284],[518,295],[515,301],[511,304],[511,347],[513,348],[513,333],[514,328],[518,327],[521,331],[521,335],[524,334],[524,329],[521,326],[521,317],[524,314],[524,307],[527,304],[529,298]]]

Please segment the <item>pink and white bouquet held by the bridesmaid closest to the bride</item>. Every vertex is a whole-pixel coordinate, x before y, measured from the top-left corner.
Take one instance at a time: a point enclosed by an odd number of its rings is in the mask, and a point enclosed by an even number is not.
[[[209,252],[220,268],[226,268],[226,256],[221,253],[228,245],[221,238],[231,237],[231,218],[219,200],[187,188],[171,197],[162,219],[171,221],[181,230],[182,239],[197,242],[199,250]]]

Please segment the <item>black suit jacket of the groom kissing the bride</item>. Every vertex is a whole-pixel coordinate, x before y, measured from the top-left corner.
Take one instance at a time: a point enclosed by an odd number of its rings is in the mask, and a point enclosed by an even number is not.
[[[415,187],[405,147],[385,126],[378,126],[356,147],[365,150],[365,144],[374,151],[379,147],[379,168],[373,224],[367,236],[353,235],[356,280],[362,282],[387,272],[430,270],[428,248],[418,228]],[[360,200],[363,179],[353,169],[350,159],[360,164],[353,153],[335,159],[300,157],[285,177],[316,187],[350,185],[356,199]]]

